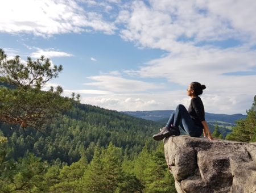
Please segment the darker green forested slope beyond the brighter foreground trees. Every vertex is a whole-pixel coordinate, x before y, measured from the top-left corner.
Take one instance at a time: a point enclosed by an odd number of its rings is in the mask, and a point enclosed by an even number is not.
[[[71,110],[46,127],[49,132],[40,133],[2,123],[1,131],[10,139],[9,157],[16,160],[31,152],[49,162],[59,158],[71,164],[79,160],[82,152],[90,161],[96,145],[106,148],[112,141],[133,158],[141,152],[146,141],[150,141],[153,149],[156,147],[151,136],[160,124],[75,103]]]

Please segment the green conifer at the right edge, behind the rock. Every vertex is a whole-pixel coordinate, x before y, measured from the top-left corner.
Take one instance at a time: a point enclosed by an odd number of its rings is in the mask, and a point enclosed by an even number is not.
[[[247,118],[238,120],[237,126],[226,136],[226,139],[242,142],[256,141],[256,95],[252,107],[247,111]]]

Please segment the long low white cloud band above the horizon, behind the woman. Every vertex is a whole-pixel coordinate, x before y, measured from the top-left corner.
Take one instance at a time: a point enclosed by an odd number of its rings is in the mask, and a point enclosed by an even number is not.
[[[250,95],[225,96],[225,94],[207,94],[201,96],[205,111],[216,114],[246,114],[253,99]],[[117,111],[175,110],[177,104],[188,108],[190,98],[184,91],[164,91],[155,94],[112,94],[101,96],[82,96],[82,103],[92,104]]]

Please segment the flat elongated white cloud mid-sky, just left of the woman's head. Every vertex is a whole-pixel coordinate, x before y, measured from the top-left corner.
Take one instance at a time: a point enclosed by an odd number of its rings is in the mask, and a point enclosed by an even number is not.
[[[96,86],[100,89],[109,90],[117,93],[134,93],[152,89],[162,89],[162,85],[126,79],[115,75],[97,75],[88,77],[94,82],[84,83],[84,85]]]

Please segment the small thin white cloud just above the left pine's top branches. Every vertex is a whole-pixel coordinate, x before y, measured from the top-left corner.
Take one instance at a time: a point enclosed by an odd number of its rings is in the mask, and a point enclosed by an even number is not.
[[[37,49],[38,49],[38,51],[30,54],[31,57],[40,58],[42,55],[47,58],[73,56],[72,54],[69,54],[66,52],[55,51],[54,49],[46,49],[46,50],[39,49],[39,48],[37,48]]]

